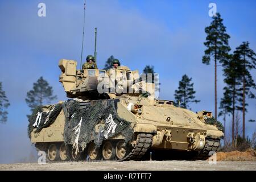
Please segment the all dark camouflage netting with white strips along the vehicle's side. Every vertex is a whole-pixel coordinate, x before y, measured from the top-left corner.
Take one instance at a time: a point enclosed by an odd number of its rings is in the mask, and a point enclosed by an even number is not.
[[[84,150],[86,145],[94,140],[96,146],[100,147],[105,138],[114,137],[118,134],[122,134],[125,137],[125,143],[127,143],[133,135],[133,130],[130,127],[130,122],[118,117],[115,109],[117,101],[98,100],[86,104],[74,99],[65,101],[63,104],[37,107],[29,119],[28,137],[31,138],[31,132],[34,128],[36,128],[36,132],[39,132],[44,127],[51,125],[63,109],[65,114],[65,144],[71,144],[77,149]],[[44,108],[50,111],[48,113],[43,112]],[[40,113],[42,113],[40,123],[35,125]],[[44,123],[47,118],[48,121]],[[100,132],[96,133],[94,129],[99,123]]]

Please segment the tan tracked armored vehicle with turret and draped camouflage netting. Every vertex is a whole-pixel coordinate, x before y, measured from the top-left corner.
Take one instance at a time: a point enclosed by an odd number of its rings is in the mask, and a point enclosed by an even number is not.
[[[194,113],[156,100],[154,83],[128,67],[76,66],[59,61],[59,81],[72,99],[40,107],[30,118],[31,142],[50,161],[140,160],[154,150],[205,157],[220,146],[224,133],[216,123],[207,124],[210,111]]]

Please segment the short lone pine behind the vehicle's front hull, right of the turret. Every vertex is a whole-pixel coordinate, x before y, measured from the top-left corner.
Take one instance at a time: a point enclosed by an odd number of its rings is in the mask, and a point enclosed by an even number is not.
[[[189,107],[189,102],[200,102],[199,100],[195,100],[195,93],[193,89],[193,83],[191,83],[192,78],[189,78],[187,75],[182,76],[182,80],[179,82],[178,90],[175,90],[175,100],[177,102],[180,101],[180,106],[187,109]]]

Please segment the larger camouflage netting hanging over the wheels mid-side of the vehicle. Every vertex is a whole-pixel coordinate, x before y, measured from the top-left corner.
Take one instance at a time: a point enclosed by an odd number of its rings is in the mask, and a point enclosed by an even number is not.
[[[92,104],[82,107],[80,107],[79,102],[69,100],[64,103],[63,110],[66,117],[64,142],[73,146],[77,143],[82,150],[93,139],[96,146],[100,147],[104,138],[114,137],[121,133],[125,137],[126,143],[133,135],[130,122],[118,117],[115,110],[115,100],[93,101]],[[100,125],[100,132],[95,133],[94,128],[98,123],[102,124]],[[77,138],[77,136],[79,137]],[[78,139],[77,142],[76,139]]]

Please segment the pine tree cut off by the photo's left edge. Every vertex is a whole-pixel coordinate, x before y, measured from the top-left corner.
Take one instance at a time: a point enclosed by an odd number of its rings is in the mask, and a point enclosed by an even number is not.
[[[7,122],[7,107],[10,106],[9,100],[5,95],[5,91],[2,90],[2,82],[0,82],[0,123]]]

